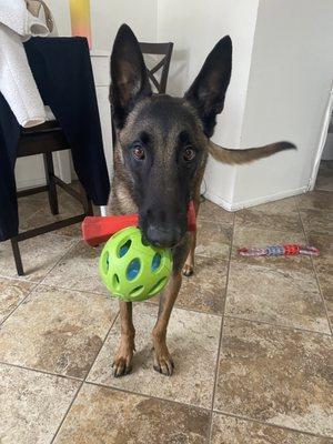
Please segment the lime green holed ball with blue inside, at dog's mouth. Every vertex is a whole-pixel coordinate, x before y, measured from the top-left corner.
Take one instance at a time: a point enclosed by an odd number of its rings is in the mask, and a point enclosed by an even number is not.
[[[170,249],[147,244],[141,230],[130,226],[109,239],[99,268],[112,296],[127,302],[144,301],[167,285],[172,254]]]

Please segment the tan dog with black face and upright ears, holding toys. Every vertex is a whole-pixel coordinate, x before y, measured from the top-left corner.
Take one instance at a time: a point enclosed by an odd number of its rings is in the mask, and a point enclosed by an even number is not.
[[[157,372],[172,375],[167,327],[183,274],[193,273],[195,234],[186,232],[186,209],[198,213],[200,185],[209,152],[225,163],[245,163],[294,148],[278,142],[249,150],[228,150],[210,138],[223,110],[231,75],[232,42],[224,37],[208,56],[183,98],[153,94],[138,40],[123,24],[111,54],[110,100],[117,143],[109,214],[139,213],[139,226],[153,245],[173,252],[173,271],[160,296],[152,331]],[[135,350],[132,303],[120,301],[121,337],[114,376],[131,372]]]

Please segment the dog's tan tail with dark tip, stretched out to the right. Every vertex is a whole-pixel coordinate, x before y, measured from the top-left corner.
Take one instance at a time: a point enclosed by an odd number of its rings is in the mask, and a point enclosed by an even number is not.
[[[232,150],[218,145],[210,141],[209,152],[220,162],[228,164],[241,164],[253,162],[254,160],[268,158],[279,151],[294,150],[296,147],[291,142],[275,142],[269,145],[249,148],[246,150]]]

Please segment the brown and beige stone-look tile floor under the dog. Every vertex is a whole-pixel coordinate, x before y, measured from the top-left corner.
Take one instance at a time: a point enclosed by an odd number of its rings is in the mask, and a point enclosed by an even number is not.
[[[46,195],[20,200],[20,216],[23,230],[50,222]],[[113,379],[118,304],[79,226],[22,243],[21,279],[0,244],[0,443],[333,443],[332,222],[327,162],[302,196],[234,214],[205,201],[196,271],[170,322],[172,377],[152,369],[155,299],[134,307],[133,373]],[[282,242],[322,254],[236,252]]]

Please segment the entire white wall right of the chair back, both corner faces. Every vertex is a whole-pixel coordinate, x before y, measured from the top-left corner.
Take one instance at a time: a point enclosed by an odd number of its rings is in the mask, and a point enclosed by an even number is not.
[[[206,195],[238,209],[305,191],[333,79],[333,1],[159,0],[158,12],[159,40],[175,42],[174,93],[189,87],[220,37],[232,37],[233,71],[216,143],[290,140],[299,148],[243,167],[210,159]]]

